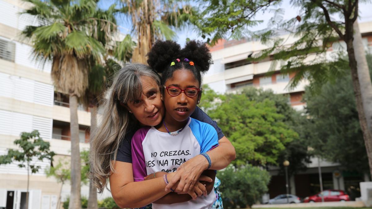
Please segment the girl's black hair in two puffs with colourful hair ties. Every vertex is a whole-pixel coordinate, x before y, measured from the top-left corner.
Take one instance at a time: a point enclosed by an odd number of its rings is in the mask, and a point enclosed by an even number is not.
[[[201,73],[208,71],[213,64],[208,47],[195,40],[187,42],[183,49],[174,41],[157,41],[147,56],[148,65],[161,73],[161,85],[173,77],[174,71],[180,69],[190,70],[201,85]],[[174,65],[171,65],[172,62]]]

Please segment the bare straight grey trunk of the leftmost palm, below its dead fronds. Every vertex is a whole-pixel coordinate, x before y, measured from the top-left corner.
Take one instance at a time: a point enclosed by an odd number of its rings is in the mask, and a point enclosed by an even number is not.
[[[81,160],[79,149],[79,124],[77,120],[77,96],[70,95],[71,131],[71,195],[68,209],[81,208]]]

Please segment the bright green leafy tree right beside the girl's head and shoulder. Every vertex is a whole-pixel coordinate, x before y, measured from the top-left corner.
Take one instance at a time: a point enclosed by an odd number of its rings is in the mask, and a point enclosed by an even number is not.
[[[247,91],[258,92],[255,89]],[[204,109],[204,104],[208,108],[211,104],[214,106],[208,110],[208,115],[217,120],[235,147],[237,158],[234,164],[277,164],[285,145],[298,138],[298,134],[284,122],[285,115],[278,113],[275,102],[269,98],[258,101],[252,97],[251,100],[244,92],[220,95],[213,100],[209,96],[203,99],[204,96],[200,106]]]

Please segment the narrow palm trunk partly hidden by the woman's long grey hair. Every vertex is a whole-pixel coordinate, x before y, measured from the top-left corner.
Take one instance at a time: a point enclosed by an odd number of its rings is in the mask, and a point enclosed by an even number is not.
[[[94,138],[94,131],[97,128],[97,106],[93,105],[92,112],[90,114],[90,139],[91,143]],[[92,146],[90,146],[92,147]],[[89,180],[89,199],[88,199],[88,208],[97,209],[97,187],[94,186],[93,180]]]

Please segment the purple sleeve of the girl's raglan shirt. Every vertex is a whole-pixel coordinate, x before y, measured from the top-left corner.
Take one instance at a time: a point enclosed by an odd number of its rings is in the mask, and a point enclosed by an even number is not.
[[[132,138],[132,168],[134,181],[143,181],[144,177],[147,176],[142,142],[150,128],[150,126],[146,126],[139,129]]]

